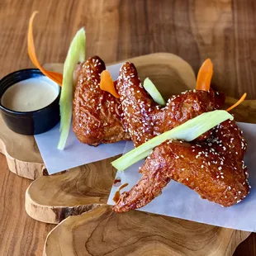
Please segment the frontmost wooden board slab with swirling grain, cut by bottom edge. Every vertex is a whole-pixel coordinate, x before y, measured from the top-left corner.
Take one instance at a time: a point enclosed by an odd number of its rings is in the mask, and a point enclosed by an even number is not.
[[[44,255],[228,256],[248,234],[142,211],[116,214],[111,206],[100,206],[50,231]]]

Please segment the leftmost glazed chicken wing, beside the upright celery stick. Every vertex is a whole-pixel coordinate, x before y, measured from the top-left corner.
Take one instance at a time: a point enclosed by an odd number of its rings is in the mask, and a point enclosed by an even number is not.
[[[119,99],[99,88],[100,74],[106,69],[95,56],[78,70],[78,82],[73,96],[73,132],[83,143],[97,146],[130,140],[122,124]]]

